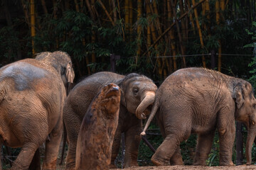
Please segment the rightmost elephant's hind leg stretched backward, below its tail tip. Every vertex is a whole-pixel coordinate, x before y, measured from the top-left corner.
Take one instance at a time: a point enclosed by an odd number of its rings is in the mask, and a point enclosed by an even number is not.
[[[156,166],[170,165],[170,159],[180,145],[180,137],[174,134],[167,135],[164,142],[156,149],[151,162]]]

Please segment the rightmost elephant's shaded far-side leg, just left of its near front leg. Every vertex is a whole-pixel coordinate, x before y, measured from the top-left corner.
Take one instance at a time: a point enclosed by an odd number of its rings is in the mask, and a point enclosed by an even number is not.
[[[213,145],[215,130],[208,134],[199,134],[196,144],[196,155],[193,160],[193,165],[206,166],[206,159],[210,153],[210,149]]]

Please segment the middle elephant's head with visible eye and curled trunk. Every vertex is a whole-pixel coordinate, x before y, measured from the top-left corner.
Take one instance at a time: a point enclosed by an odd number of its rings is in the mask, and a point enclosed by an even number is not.
[[[137,118],[146,118],[150,113],[149,106],[154,103],[156,84],[147,77],[132,73],[124,77],[119,86],[122,105]]]

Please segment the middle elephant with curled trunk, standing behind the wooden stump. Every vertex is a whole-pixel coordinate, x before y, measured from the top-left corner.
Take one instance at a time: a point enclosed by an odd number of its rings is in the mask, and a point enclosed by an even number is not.
[[[66,169],[75,169],[75,150],[82,119],[91,101],[103,86],[114,83],[120,87],[119,120],[114,134],[110,168],[119,153],[121,134],[125,136],[124,167],[138,166],[137,155],[141,140],[142,119],[149,115],[157,86],[140,74],[127,76],[113,72],[98,72],[80,81],[68,94],[63,108],[63,120],[68,135]]]

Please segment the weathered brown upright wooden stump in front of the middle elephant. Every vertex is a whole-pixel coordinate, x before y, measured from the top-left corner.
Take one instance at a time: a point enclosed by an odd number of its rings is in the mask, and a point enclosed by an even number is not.
[[[110,169],[120,96],[119,86],[109,84],[90,104],[78,134],[75,169]]]

